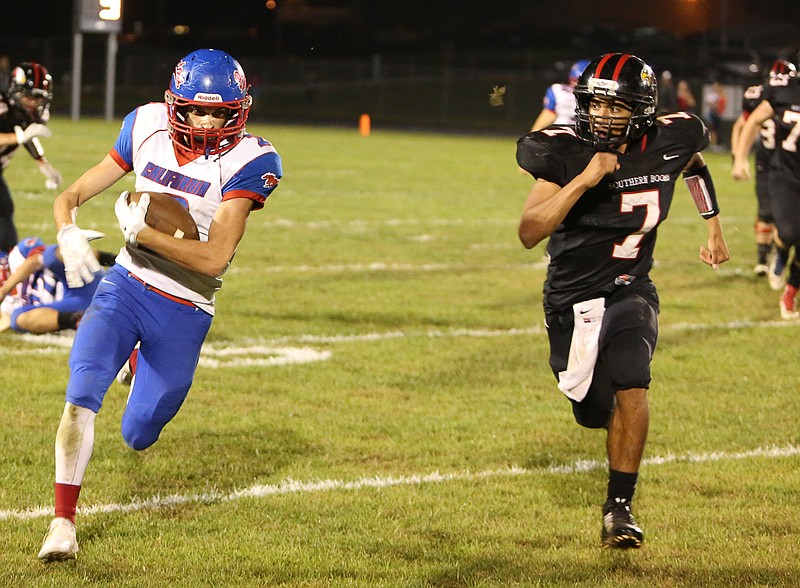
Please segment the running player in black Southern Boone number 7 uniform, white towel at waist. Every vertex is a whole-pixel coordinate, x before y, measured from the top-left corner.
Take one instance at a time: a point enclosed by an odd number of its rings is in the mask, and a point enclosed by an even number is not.
[[[517,163],[536,178],[519,237],[527,248],[550,237],[544,310],[550,366],[578,424],[607,429],[609,482],[602,544],[636,548],[631,513],[649,425],[647,389],[658,338],[649,277],[658,225],[683,174],[708,226],[700,259],[729,259],[714,185],[700,151],[702,121],[687,112],[656,116],[652,68],[630,54],[592,61],[575,87],[575,126],[551,126],[517,144]]]

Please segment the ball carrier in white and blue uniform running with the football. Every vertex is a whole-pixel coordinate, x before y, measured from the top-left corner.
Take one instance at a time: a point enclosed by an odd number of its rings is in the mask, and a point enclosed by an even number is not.
[[[149,198],[115,206],[125,247],[100,281],[70,356],[66,406],[56,436],[55,518],[39,558],[73,559],[75,512],[94,445],[94,419],[117,372],[139,344],[136,375],[122,416],[132,449],[149,447],[175,416],[192,384],[214,314],[221,276],[244,235],[250,212],[263,207],[282,175],[273,146],[250,135],[252,98],[239,63],[200,49],[175,67],[163,103],[140,106],[122,123],[111,152],[54,203],[58,243],[70,285],[96,271],[74,211],[136,175],[136,191],[167,192],[187,207],[200,240],[148,227]]]

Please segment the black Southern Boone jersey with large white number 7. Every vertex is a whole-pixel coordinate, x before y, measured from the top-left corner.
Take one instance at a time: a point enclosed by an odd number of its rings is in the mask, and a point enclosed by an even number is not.
[[[675,182],[708,141],[698,117],[669,112],[628,146],[619,170],[583,194],[550,236],[546,312],[649,280],[656,232],[669,214]],[[594,153],[570,126],[550,126],[517,142],[519,166],[559,186],[582,172]]]

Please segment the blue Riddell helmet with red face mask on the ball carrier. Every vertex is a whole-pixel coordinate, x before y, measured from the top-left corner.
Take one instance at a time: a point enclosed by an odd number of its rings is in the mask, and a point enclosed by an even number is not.
[[[242,66],[224,51],[199,49],[181,59],[164,94],[173,143],[182,151],[206,157],[232,149],[245,134],[253,102],[248,90]],[[192,126],[187,111],[193,106],[225,109],[225,125],[220,129]]]

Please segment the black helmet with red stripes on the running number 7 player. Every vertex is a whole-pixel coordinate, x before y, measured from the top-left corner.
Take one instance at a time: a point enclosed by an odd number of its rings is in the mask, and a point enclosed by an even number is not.
[[[596,98],[622,102],[631,110],[621,132],[614,124],[615,117],[589,114],[589,104]],[[658,89],[653,68],[629,53],[607,53],[583,70],[575,86],[575,102],[575,130],[585,143],[609,151],[635,141],[656,116]]]

